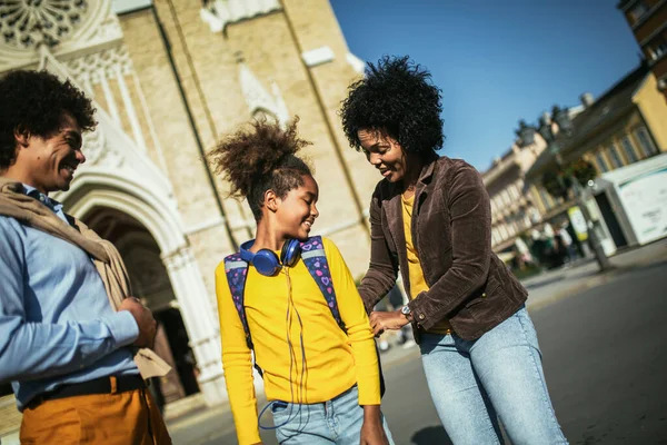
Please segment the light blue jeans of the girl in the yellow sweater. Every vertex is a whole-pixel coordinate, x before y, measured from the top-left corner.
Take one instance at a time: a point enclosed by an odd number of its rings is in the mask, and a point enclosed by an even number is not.
[[[325,403],[299,405],[273,402],[271,412],[280,444],[359,445],[364,408],[359,406],[357,386]],[[389,444],[394,445],[385,416],[382,424]]]

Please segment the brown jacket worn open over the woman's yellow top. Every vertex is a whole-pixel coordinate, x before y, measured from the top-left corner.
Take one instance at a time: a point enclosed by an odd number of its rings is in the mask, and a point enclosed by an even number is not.
[[[378,184],[370,227],[370,267],[359,286],[368,312],[395,285],[399,269],[410,291],[398,185]],[[470,165],[441,157],[422,169],[411,230],[429,285],[409,303],[417,339],[445,317],[461,338],[479,338],[526,301],[527,290],[491,251],[489,197]]]

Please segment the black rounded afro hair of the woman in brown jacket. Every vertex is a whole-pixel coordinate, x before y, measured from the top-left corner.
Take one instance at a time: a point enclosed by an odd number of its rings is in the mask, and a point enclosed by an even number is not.
[[[441,91],[431,75],[405,57],[382,57],[367,63],[366,77],[350,85],[339,115],[357,151],[357,131],[386,131],[408,152],[430,158],[442,147]]]

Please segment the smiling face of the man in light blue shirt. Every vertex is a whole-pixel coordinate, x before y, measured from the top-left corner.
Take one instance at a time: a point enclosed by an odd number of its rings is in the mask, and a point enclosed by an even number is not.
[[[47,137],[18,136],[16,168],[21,181],[43,194],[69,190],[74,170],[86,161],[81,152],[81,129],[64,113],[60,128]]]

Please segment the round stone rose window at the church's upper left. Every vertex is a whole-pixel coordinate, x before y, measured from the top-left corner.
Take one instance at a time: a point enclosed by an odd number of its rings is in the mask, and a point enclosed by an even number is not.
[[[54,47],[83,22],[89,0],[2,0],[0,32],[19,49]]]

